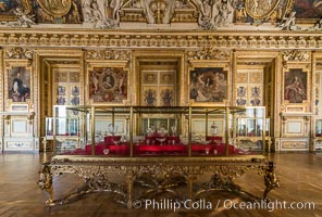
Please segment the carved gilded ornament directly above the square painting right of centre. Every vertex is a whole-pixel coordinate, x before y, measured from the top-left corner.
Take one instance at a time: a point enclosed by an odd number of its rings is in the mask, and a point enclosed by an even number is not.
[[[227,51],[220,51],[214,49],[213,47],[211,48],[203,48],[202,50],[199,51],[189,51],[187,53],[188,60],[228,60],[230,59],[230,52]]]

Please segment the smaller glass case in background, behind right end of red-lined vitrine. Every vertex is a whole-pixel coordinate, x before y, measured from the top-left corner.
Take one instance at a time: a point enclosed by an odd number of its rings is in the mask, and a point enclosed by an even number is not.
[[[269,139],[270,119],[265,117],[264,106],[246,107],[236,115],[236,142],[240,149],[263,151]]]

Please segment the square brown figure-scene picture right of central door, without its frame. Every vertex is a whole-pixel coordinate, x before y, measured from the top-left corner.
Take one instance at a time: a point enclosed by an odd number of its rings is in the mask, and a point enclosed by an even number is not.
[[[227,99],[227,71],[224,67],[196,67],[190,71],[190,101],[223,103]]]

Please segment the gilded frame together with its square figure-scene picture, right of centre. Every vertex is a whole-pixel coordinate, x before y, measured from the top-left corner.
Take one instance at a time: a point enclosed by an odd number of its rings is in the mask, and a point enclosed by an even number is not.
[[[231,69],[227,63],[195,64],[189,68],[188,99],[191,105],[225,105],[231,93]]]

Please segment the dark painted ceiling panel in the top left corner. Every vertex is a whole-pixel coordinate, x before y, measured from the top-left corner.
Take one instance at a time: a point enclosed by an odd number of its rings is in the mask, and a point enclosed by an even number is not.
[[[15,21],[15,9],[30,10],[28,0],[0,0],[0,21]]]

